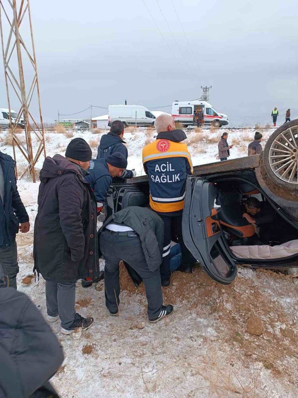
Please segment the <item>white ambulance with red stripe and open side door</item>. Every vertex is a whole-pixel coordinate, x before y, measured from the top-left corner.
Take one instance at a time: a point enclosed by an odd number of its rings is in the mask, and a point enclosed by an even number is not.
[[[228,117],[224,113],[217,112],[214,107],[206,101],[175,101],[172,103],[172,117],[184,127],[197,125],[195,113],[201,108],[204,112],[204,125],[214,127],[226,126]]]

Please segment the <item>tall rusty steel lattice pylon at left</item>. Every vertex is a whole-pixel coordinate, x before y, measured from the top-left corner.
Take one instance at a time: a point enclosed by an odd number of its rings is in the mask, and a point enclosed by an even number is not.
[[[20,25],[22,25],[22,28],[25,25],[24,28],[27,27],[28,32],[30,32],[30,35],[27,35],[27,32],[25,32],[25,35],[29,37],[29,39],[27,39],[27,45],[21,37]],[[17,146],[28,162],[28,166],[20,178],[29,170],[32,174],[33,182],[35,182],[35,164],[42,152],[45,156],[46,152],[29,0],[19,0],[19,5],[17,5],[16,0],[0,0],[0,31],[14,160],[16,160],[15,146]],[[27,86],[29,87],[27,91],[23,70],[25,62],[30,64],[31,71],[30,78],[27,79],[26,77],[26,81],[28,80],[30,84],[30,86]],[[26,76],[27,75],[29,75],[29,73],[26,70]],[[13,95],[10,94],[10,90]],[[30,108],[33,95],[35,95],[35,97],[37,96],[39,106],[38,123],[33,118],[30,110],[33,107],[31,106]],[[12,123],[12,117],[10,115],[10,105],[13,98],[14,100],[17,98],[15,101],[20,103],[14,123]],[[24,120],[26,144],[23,144],[16,135],[16,129],[21,119]],[[35,155],[32,150],[31,131],[35,133],[37,137],[38,147]]]

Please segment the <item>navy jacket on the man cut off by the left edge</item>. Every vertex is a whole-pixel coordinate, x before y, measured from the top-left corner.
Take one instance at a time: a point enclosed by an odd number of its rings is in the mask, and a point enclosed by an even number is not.
[[[0,152],[0,163],[4,175],[4,203],[0,198],[0,247],[5,248],[14,244],[19,224],[29,221],[29,216],[17,191],[15,161]]]

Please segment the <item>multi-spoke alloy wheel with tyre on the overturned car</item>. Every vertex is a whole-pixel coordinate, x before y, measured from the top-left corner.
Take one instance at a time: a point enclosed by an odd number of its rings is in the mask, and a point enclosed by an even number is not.
[[[273,182],[292,191],[298,189],[298,119],[271,134],[264,148],[263,162]]]

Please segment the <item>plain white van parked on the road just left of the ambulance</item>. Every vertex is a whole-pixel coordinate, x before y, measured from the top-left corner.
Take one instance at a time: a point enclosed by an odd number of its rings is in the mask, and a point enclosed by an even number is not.
[[[121,120],[127,126],[154,126],[156,117],[142,105],[109,105],[108,125]]]

